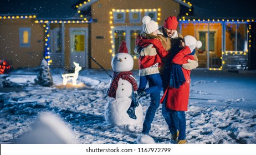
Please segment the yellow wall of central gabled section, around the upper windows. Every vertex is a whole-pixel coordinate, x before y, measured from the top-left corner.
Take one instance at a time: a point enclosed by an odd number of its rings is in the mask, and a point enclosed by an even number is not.
[[[101,7],[100,5],[101,4]],[[111,69],[111,39],[110,39],[110,14],[112,9],[150,9],[160,8],[161,16],[158,25],[163,25],[163,21],[168,16],[178,16],[180,12],[180,4],[174,1],[99,1],[91,6],[93,19],[97,19],[98,22],[91,23],[91,55],[98,61],[99,64],[104,66],[105,69]],[[142,17],[144,13],[142,13]],[[128,13],[126,13],[126,19]],[[142,23],[125,23],[120,25],[141,25]],[[96,36],[103,36],[104,39],[96,39]],[[91,63],[91,68],[99,69],[100,67],[94,62]],[[138,69],[138,59],[134,60],[134,69]]]

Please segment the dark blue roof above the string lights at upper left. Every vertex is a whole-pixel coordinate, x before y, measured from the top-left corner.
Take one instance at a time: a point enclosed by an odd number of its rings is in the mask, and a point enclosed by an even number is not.
[[[6,16],[35,14],[38,19],[76,19],[79,14],[72,5],[76,0],[1,0],[0,14]]]

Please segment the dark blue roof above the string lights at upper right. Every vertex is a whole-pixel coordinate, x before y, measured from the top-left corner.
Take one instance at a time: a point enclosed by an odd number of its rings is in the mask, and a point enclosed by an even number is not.
[[[190,0],[192,16],[199,19],[256,19],[256,9],[249,0]]]

